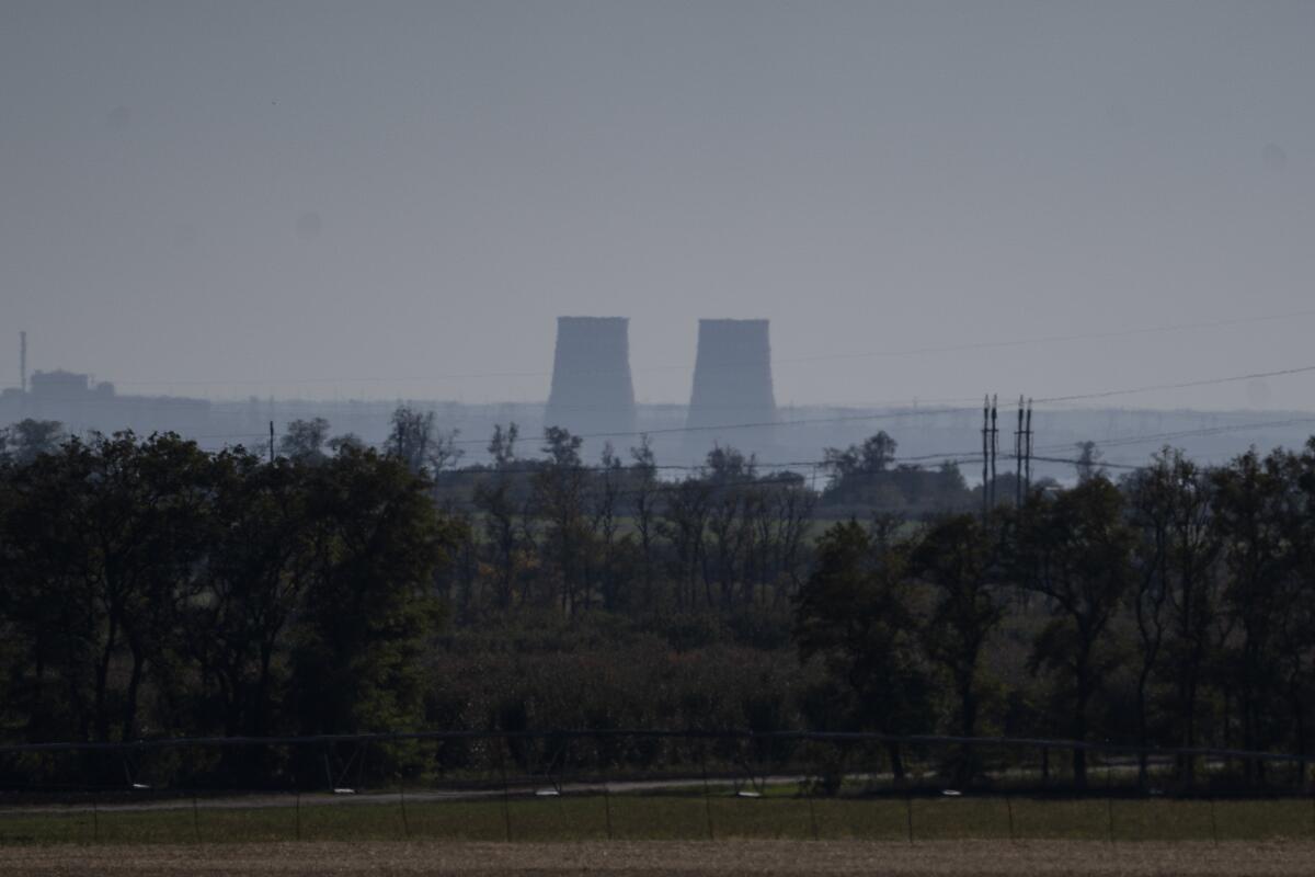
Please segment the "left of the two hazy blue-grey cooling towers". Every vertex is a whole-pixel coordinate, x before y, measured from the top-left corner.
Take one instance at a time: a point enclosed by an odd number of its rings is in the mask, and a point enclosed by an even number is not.
[[[544,426],[563,426],[576,435],[634,431],[627,318],[558,317]]]

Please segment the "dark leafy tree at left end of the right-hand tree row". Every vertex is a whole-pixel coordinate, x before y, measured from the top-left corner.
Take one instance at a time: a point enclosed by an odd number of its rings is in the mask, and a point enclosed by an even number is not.
[[[928,680],[918,661],[907,552],[874,551],[853,521],[818,540],[817,565],[796,598],[794,640],[805,661],[818,657],[853,696],[860,727],[910,734],[926,727]],[[890,751],[897,778],[898,749]]]

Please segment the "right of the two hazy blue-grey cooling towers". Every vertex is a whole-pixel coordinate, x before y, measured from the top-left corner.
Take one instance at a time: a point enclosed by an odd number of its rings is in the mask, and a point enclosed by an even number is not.
[[[776,422],[768,325],[767,320],[698,321],[698,356],[688,426]],[[704,434],[690,439],[711,446],[721,437]],[[769,435],[761,430],[750,438],[759,443]]]

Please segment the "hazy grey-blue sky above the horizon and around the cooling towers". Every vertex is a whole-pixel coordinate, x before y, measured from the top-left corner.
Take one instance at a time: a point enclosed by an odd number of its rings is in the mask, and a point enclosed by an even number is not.
[[[700,317],[1051,396],[1315,364],[1312,277],[1315,3],[0,0],[0,385],[539,400],[597,314],[646,401]]]

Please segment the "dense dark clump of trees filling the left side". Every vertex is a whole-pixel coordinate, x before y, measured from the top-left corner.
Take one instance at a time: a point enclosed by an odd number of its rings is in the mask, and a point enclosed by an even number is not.
[[[0,481],[0,721],[22,740],[406,727],[459,542],[401,462],[68,438]]]

